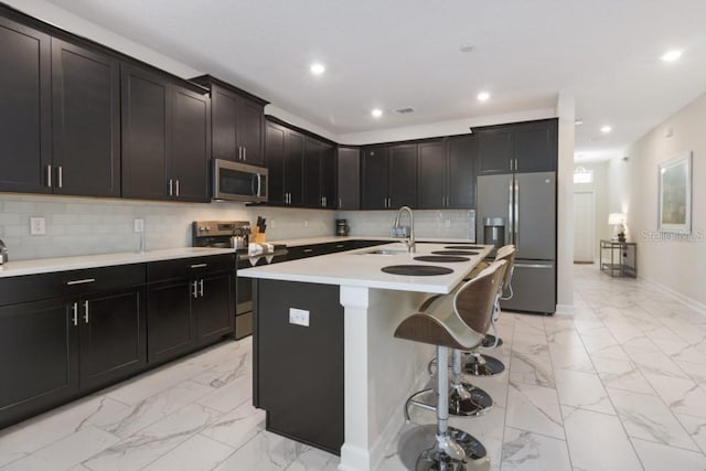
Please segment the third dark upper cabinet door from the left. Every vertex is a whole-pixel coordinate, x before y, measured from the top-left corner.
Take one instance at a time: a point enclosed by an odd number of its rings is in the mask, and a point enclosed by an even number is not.
[[[121,65],[122,196],[168,197],[169,85],[150,72]]]

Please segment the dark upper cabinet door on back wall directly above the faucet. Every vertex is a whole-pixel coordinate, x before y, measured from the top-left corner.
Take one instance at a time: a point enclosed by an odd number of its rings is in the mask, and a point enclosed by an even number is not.
[[[417,206],[417,144],[389,149],[389,207]]]

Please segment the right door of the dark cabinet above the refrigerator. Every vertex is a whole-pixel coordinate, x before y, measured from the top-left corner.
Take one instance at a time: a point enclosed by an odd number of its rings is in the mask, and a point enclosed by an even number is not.
[[[516,171],[553,172],[558,159],[556,119],[517,125],[513,130]]]

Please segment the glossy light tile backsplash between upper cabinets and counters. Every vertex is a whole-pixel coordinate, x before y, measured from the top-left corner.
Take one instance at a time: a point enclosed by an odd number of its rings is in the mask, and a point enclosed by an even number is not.
[[[189,247],[196,220],[267,218],[267,239],[334,234],[338,217],[353,236],[387,236],[395,211],[346,211],[245,206],[243,203],[171,203],[31,194],[0,194],[0,238],[10,260],[137,251],[135,218],[145,220],[148,250]],[[415,211],[418,237],[469,237],[469,211]],[[30,218],[43,217],[44,235],[30,235]],[[406,217],[405,217],[406,221]],[[407,223],[405,223],[407,224]]]

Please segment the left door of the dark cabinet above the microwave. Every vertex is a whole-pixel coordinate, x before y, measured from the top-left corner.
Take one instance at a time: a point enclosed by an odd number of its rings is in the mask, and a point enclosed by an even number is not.
[[[212,106],[212,146],[213,158],[237,161],[240,152],[237,144],[238,97],[213,85]]]

